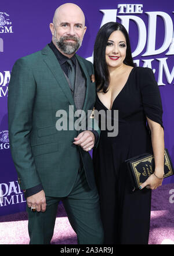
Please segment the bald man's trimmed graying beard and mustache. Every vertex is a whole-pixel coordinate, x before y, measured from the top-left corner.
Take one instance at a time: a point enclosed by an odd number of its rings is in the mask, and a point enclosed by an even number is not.
[[[65,40],[75,40],[75,42],[66,42]],[[60,37],[56,40],[57,47],[64,52],[64,54],[75,54],[81,47],[82,42],[77,37]]]

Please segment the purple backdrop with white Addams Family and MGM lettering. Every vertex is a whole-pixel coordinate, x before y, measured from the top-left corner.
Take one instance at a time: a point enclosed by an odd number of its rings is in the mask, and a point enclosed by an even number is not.
[[[121,22],[129,32],[137,66],[153,69],[164,109],[165,147],[174,163],[174,6],[171,0],[77,0],[88,27],[78,54],[92,61],[100,26]],[[44,48],[51,41],[49,23],[55,9],[66,1],[9,0],[0,5],[0,215],[25,211],[8,139],[8,84],[14,62]],[[46,102],[45,102],[46,104]],[[173,183],[168,177],[163,184]]]

